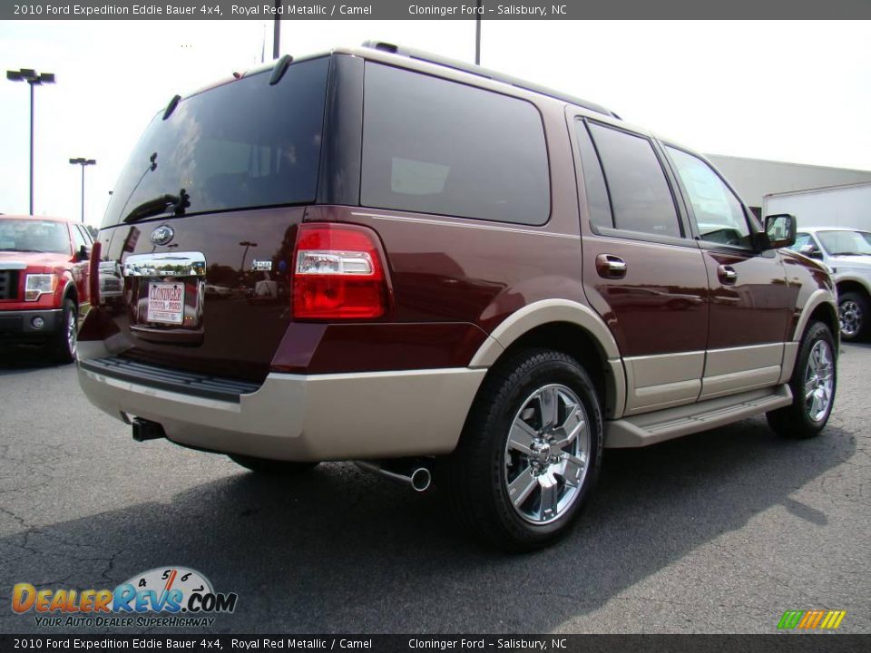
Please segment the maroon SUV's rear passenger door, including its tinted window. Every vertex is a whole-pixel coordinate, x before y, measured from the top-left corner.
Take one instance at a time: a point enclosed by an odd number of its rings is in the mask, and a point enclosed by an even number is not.
[[[583,285],[617,341],[626,414],[699,396],[708,278],[699,247],[647,136],[573,116],[582,168]]]

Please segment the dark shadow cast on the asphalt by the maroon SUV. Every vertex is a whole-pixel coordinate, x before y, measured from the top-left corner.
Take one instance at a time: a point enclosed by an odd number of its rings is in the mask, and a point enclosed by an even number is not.
[[[156,567],[190,567],[216,590],[239,594],[236,612],[210,632],[547,632],[778,505],[826,524],[823,512],[790,494],[855,452],[843,429],[790,442],[764,419],[607,451],[574,532],[519,556],[469,541],[442,494],[416,495],[352,465],[270,479],[220,463],[227,475],[168,503],[42,527],[0,510],[20,525],[0,538],[0,577],[7,590],[21,581],[100,589]],[[168,474],[185,473],[184,464],[115,479],[117,492],[147,497]],[[777,542],[770,546],[776,557]],[[33,613],[8,609],[0,629],[39,630]]]

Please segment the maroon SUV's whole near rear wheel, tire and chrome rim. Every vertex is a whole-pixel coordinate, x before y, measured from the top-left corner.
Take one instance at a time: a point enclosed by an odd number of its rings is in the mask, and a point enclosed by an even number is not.
[[[533,551],[569,530],[601,460],[590,377],[571,356],[528,350],[487,377],[445,472],[469,530],[508,551]]]

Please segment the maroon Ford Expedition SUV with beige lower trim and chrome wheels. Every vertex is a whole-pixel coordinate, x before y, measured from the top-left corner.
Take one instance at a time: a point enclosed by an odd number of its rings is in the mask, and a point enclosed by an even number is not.
[[[137,439],[255,471],[435,471],[530,550],[603,447],[826,424],[832,280],[766,221],[596,104],[387,44],[285,57],[142,136],[93,264],[124,307],[85,320],[79,379]]]

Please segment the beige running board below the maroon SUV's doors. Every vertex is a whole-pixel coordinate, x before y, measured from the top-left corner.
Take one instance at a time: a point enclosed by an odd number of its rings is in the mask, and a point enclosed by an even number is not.
[[[752,390],[605,422],[605,447],[641,447],[731,424],[792,404],[789,386]]]

